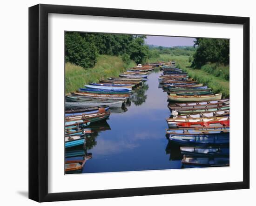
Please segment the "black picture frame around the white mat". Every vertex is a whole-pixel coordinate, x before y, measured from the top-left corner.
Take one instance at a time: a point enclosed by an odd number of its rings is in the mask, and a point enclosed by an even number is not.
[[[243,181],[48,193],[48,13],[243,25]],[[242,58],[242,57],[241,57]],[[29,199],[38,202],[249,188],[249,18],[39,4],[29,8]]]

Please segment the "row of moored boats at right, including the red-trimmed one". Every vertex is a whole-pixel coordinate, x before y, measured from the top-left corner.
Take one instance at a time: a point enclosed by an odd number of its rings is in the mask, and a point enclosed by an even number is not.
[[[182,166],[229,166],[229,99],[189,78],[175,62],[163,62],[161,69],[171,112],[166,136],[180,148]]]

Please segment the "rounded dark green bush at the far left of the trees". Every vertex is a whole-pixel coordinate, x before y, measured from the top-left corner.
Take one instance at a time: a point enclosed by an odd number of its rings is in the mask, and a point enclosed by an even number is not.
[[[79,33],[65,34],[65,61],[84,68],[92,67],[97,62],[97,48],[93,38]]]

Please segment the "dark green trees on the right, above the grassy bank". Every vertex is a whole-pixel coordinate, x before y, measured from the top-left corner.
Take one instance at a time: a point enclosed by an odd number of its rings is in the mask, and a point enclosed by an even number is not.
[[[196,38],[196,52],[193,55],[192,66],[201,66],[210,63],[229,64],[229,40]]]

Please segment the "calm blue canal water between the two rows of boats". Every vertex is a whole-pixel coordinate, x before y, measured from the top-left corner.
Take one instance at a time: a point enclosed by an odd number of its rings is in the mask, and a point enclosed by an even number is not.
[[[82,173],[181,168],[179,150],[171,152],[165,137],[170,111],[167,93],[159,88],[161,73],[148,75],[144,86],[132,94],[126,112],[111,111],[107,122],[90,126],[98,132],[88,138],[87,153],[92,153],[92,159]]]

